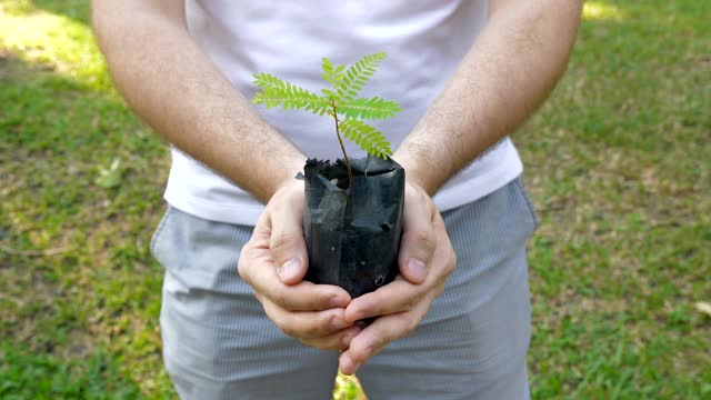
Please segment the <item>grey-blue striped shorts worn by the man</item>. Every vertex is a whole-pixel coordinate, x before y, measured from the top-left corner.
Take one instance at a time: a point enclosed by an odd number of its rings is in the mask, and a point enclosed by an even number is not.
[[[458,256],[420,327],[359,371],[380,399],[528,399],[525,242],[535,217],[515,179],[442,213]],[[330,399],[338,351],[283,334],[237,273],[251,227],[169,208],[151,242],[166,268],[161,332],[182,399]]]

